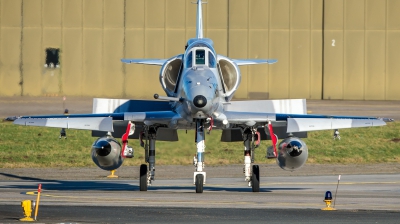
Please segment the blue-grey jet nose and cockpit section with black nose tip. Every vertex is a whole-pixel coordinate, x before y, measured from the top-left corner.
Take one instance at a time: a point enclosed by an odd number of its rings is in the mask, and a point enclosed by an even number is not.
[[[226,102],[217,55],[207,38],[190,39],[182,60],[176,96],[182,99],[180,115],[187,121],[206,119]],[[168,92],[166,92],[168,94]]]

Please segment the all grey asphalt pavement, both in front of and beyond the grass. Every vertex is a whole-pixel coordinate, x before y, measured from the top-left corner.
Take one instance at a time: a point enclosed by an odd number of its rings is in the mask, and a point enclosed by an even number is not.
[[[70,113],[90,113],[91,101],[80,97],[67,97],[66,101],[61,97],[0,97],[0,117],[56,114],[64,108]],[[400,119],[398,101],[307,104],[309,113],[314,114]],[[207,168],[210,176],[203,194],[195,193],[191,178],[182,178],[190,177],[193,167],[168,169],[181,172],[160,175],[165,179],[157,179],[148,192],[139,191],[136,171],[108,180],[91,178],[93,171],[86,168],[75,169],[75,176],[65,178],[64,170],[50,178],[30,169],[1,169],[0,223],[19,222],[20,202],[35,200],[39,183],[43,192],[38,221],[44,223],[400,223],[399,164],[366,169],[306,165],[300,172],[285,174],[271,168],[261,177],[260,193],[251,192],[243,174],[231,175],[233,168],[217,167],[220,170],[214,176],[212,168]],[[321,211],[325,192],[332,191],[335,196],[338,173],[344,174],[335,199],[338,211]],[[57,171],[50,175],[55,174]]]

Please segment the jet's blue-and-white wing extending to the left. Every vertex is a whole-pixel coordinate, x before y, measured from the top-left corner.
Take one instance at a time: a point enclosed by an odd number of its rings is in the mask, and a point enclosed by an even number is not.
[[[169,122],[176,119],[180,119],[180,115],[173,111],[151,111],[23,116],[15,120],[14,124],[113,132],[113,121],[115,120],[125,120],[145,124],[169,124]]]

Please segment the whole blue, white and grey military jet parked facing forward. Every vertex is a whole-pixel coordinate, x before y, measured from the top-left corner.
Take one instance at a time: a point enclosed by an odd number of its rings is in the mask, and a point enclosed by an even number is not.
[[[23,116],[14,123],[92,130],[99,136],[92,145],[94,163],[104,170],[119,168],[133,157],[128,139],[140,139],[145,161],[140,166],[140,190],[155,180],[155,142],[177,141],[178,129],[194,129],[196,155],[193,183],[196,193],[206,183],[205,133],[222,130],[222,141],[244,142],[244,175],[253,192],[260,190],[260,172],[254,164],[254,149],[260,140],[272,140],[267,158],[286,170],[303,166],[308,148],[300,137],[307,131],[335,130],[385,125],[389,119],[307,114],[304,100],[231,101],[238,89],[239,66],[273,64],[277,60],[230,59],[215,52],[213,41],[203,37],[202,1],[197,1],[196,37],[187,41],[183,54],[169,59],[122,59],[127,64],[161,66],[160,83],[166,96],[156,100],[95,99],[93,114]],[[284,105],[284,106],[282,106]],[[121,144],[112,135],[121,137]],[[278,145],[278,138],[283,139]],[[277,147],[278,146],[278,147]]]

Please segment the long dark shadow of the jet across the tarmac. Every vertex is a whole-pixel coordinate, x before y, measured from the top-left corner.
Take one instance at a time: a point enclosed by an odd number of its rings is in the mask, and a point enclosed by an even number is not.
[[[23,177],[14,174],[0,173],[0,175],[6,177],[12,177],[20,179],[27,182],[32,182],[32,184],[15,184],[0,186],[0,188],[17,188],[26,189],[29,191],[35,191],[37,189],[37,182],[42,182],[42,189],[46,190],[68,190],[68,191],[139,191],[139,186],[134,185],[138,181],[133,180],[128,182],[126,180],[46,180],[41,178],[33,177]],[[187,193],[194,193],[195,186],[149,186],[149,191],[189,191]],[[287,191],[299,191],[307,190],[309,188],[260,188],[260,192],[272,192],[277,190],[287,190]],[[250,187],[224,187],[224,186],[207,186],[204,185],[204,191],[226,191],[226,192],[251,192]],[[185,193],[185,192],[180,192]]]

